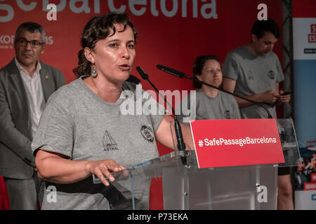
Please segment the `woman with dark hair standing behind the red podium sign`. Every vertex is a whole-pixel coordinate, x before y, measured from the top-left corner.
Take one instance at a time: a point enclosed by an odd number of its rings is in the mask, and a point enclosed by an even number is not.
[[[218,57],[215,55],[197,57],[193,64],[193,75],[195,80],[192,85],[197,89],[196,97],[191,97],[189,94],[178,106],[178,110],[181,111],[180,118],[183,122],[189,122],[189,120],[240,119],[239,108],[232,95],[197,82],[197,80],[200,80],[220,87],[223,74]],[[182,104],[188,105],[187,108],[190,109],[190,114],[184,113]]]

